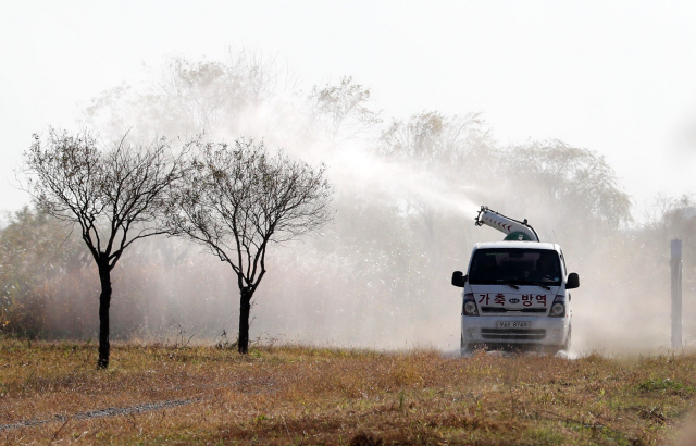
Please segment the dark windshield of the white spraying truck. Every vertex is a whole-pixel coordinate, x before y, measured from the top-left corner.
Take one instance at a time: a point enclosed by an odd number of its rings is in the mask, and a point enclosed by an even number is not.
[[[560,285],[558,252],[547,249],[476,249],[469,268],[469,283]]]

